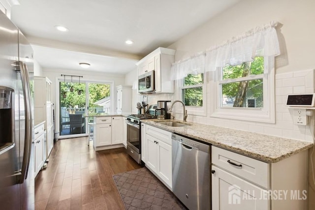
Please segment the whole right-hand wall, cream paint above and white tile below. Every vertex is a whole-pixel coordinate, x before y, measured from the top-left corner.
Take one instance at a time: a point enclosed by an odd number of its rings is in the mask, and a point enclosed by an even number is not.
[[[315,25],[312,24],[315,22],[314,8],[315,0],[243,0],[168,46],[168,48],[176,49],[175,61],[178,61],[222,44],[233,36],[240,36],[255,27],[269,24],[271,21],[278,21],[282,24],[279,35],[280,40],[284,41],[281,43],[283,55],[281,67],[278,66],[276,69],[276,124],[211,118],[209,113],[214,96],[211,95],[209,81],[206,88],[208,95],[206,100],[207,116],[189,115],[188,120],[313,141],[308,126],[293,124],[291,111],[283,108],[285,104],[283,98],[294,92],[314,92],[314,81],[311,84],[311,89],[306,89],[305,85],[294,83],[297,81],[294,77],[299,77],[299,74],[294,74],[294,72],[315,68],[315,59],[313,58],[315,56]],[[283,87],[282,78],[285,77],[291,77],[292,84],[286,83]],[[302,79],[305,81],[305,77]],[[282,91],[283,88],[287,91]],[[149,103],[156,103],[157,100],[164,99],[179,99],[176,97],[177,95],[180,95],[177,90],[175,94],[149,95]],[[282,100],[279,101],[279,98]],[[176,118],[181,119],[182,115],[176,115]]]

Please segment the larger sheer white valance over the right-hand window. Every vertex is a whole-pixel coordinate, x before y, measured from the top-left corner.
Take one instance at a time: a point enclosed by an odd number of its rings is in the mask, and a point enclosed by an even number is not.
[[[252,61],[256,56],[280,55],[279,42],[272,22],[262,28],[250,30],[239,37],[206,51],[206,71],[215,71],[226,64],[238,65]]]

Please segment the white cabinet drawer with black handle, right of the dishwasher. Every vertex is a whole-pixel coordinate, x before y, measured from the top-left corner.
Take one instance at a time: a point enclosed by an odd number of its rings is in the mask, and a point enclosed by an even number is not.
[[[221,148],[212,147],[212,164],[269,188],[269,164]]]

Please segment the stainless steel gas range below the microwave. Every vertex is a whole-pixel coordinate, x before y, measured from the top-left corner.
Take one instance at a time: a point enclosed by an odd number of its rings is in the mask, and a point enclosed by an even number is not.
[[[141,129],[140,120],[153,119],[157,116],[151,114],[128,115],[127,116],[127,153],[137,163],[141,163]]]

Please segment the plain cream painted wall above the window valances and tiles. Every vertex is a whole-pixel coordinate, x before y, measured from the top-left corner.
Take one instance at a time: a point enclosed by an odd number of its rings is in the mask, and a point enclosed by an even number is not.
[[[181,60],[270,21],[283,24],[288,64],[277,73],[310,69],[315,49],[314,0],[243,0],[169,46]]]

